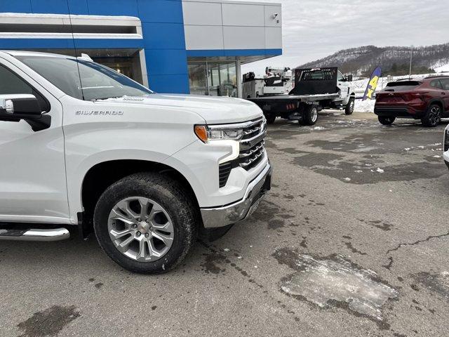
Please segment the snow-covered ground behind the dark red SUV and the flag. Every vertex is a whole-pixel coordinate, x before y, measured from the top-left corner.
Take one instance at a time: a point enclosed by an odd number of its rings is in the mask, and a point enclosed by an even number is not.
[[[436,74],[420,74],[420,75],[412,75],[413,79],[424,79],[424,77],[428,76],[436,76],[438,75],[448,75],[449,76],[449,65],[444,65],[443,67],[439,67],[435,69]],[[385,88],[389,81],[397,81],[398,79],[408,79],[408,75],[406,76],[394,76],[394,77],[381,77],[377,84],[376,93]],[[354,111],[356,112],[374,112],[375,100],[365,100],[362,101],[361,98],[366,91],[366,86],[368,86],[369,79],[358,79],[352,82],[352,86],[354,86],[356,91],[356,105],[354,107]]]

